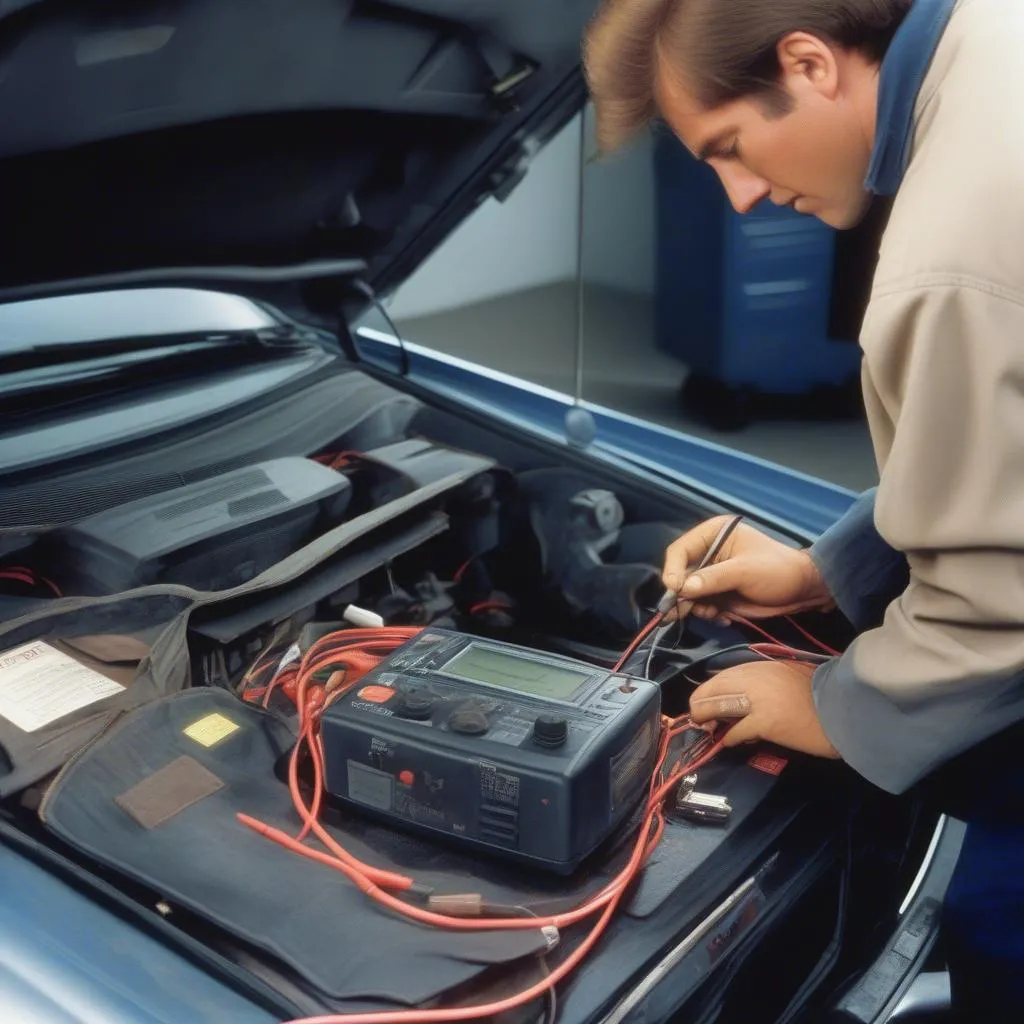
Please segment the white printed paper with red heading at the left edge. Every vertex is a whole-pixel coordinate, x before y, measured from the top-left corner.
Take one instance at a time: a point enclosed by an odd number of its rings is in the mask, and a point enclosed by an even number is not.
[[[42,640],[0,654],[0,718],[35,732],[124,687]]]

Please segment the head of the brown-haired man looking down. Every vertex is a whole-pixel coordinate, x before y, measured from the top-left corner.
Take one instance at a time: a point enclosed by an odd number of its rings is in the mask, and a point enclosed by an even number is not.
[[[662,117],[745,213],[862,216],[878,74],[912,0],[603,0],[585,66],[609,151]]]

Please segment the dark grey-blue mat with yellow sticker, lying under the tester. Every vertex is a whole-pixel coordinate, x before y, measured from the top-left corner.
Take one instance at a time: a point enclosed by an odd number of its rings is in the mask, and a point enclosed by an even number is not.
[[[289,723],[213,687],[196,687],[125,715],[59,772],[40,816],[57,839],[106,877],[144,887],[216,930],[218,947],[279,991],[298,986],[308,1012],[366,1002],[423,1006],[469,983],[499,980],[512,965],[546,952],[539,930],[461,932],[403,920],[338,870],[258,834],[239,814],[298,833],[287,781],[295,736]],[[735,821],[702,829],[670,822],[662,846],[622,913],[640,924],[686,892],[684,912],[707,898],[712,856],[750,817],[769,776],[739,764],[732,778]],[[567,910],[603,888],[628,859],[627,827],[569,879],[464,854],[328,806],[325,827],[350,853],[399,871],[437,894],[478,893],[504,915]],[[634,821],[632,824],[636,824]],[[318,843],[314,849],[322,849]],[[738,851],[737,851],[738,852]],[[713,868],[713,873],[717,868]],[[720,881],[720,880],[718,880]],[[575,931],[562,945],[574,944]],[[562,955],[560,947],[553,957]],[[553,961],[554,962],[554,961]]]

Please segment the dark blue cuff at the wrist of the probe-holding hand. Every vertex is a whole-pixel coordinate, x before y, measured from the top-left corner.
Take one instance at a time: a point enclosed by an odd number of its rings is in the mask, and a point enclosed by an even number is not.
[[[876,489],[865,490],[810,551],[840,611],[858,630],[882,622],[886,605],[908,578],[903,553],[874,528]]]

